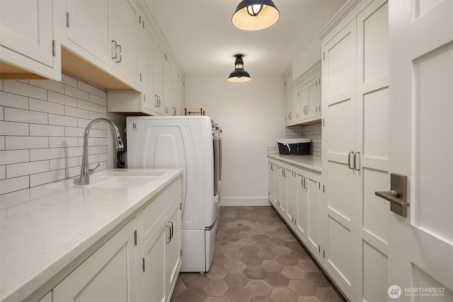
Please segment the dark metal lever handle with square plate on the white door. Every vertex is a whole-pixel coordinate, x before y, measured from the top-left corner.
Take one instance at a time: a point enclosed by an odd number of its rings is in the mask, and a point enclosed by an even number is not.
[[[390,175],[390,191],[374,192],[379,197],[387,199],[390,202],[390,211],[401,215],[408,216],[409,203],[407,202],[408,195],[408,177],[397,173]]]

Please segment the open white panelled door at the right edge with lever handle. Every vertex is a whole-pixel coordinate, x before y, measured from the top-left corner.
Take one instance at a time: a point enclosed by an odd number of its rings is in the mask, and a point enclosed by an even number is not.
[[[389,1],[389,301],[453,301],[453,1]],[[388,203],[385,199],[382,202]]]

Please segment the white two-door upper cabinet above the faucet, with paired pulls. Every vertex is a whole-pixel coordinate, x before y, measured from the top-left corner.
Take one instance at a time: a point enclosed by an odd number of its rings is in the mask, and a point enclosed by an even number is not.
[[[141,16],[133,0],[67,0],[66,39],[71,52],[139,90]]]

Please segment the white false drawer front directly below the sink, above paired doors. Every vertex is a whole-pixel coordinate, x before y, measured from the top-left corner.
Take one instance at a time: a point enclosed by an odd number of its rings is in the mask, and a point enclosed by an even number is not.
[[[142,223],[142,234],[143,237],[149,236],[152,232],[151,229],[154,226],[159,225],[159,221],[164,219],[168,207],[173,204],[174,200],[180,197],[181,180],[178,179],[176,182],[168,187],[164,193],[160,194],[159,197],[154,199],[147,207],[142,210],[143,223]]]

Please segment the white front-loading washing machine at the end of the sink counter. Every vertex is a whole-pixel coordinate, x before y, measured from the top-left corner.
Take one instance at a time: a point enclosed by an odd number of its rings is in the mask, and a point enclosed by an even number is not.
[[[219,225],[220,130],[206,116],[127,117],[128,168],[182,168],[181,272],[207,272]]]

